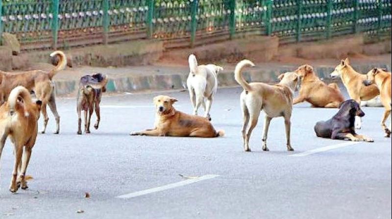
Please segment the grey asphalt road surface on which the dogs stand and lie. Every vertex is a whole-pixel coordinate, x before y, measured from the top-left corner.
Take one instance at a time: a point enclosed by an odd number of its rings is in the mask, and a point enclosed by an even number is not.
[[[375,143],[344,145],[317,138],[315,123],[337,110],[301,104],[292,118],[295,152],[286,151],[282,119],[272,120],[270,152],[262,152],[260,117],[252,153],[245,153],[240,92],[218,91],[213,124],[226,136],[215,139],[129,136],[152,128],[155,94],[103,98],[100,129],[78,136],[76,101],[59,99],[61,134],[38,137],[27,171],[34,177],[28,191],[8,191],[13,155],[6,144],[0,218],[391,218],[391,139],[379,126],[382,108],[365,108],[359,131]],[[179,99],[178,110],[192,112],[187,92],[169,94]],[[52,117],[48,130],[54,130]],[[130,198],[119,198],[127,194]]]

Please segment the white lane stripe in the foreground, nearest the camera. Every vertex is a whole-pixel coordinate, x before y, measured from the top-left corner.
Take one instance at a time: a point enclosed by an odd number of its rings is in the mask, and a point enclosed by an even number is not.
[[[184,181],[180,181],[180,182],[176,182],[176,183],[172,183],[172,184],[168,184],[168,185],[164,185],[164,186],[160,186],[160,187],[156,187],[156,188],[152,188],[152,189],[147,189],[147,190],[143,190],[143,191],[139,191],[139,192],[134,192],[134,193],[118,196],[117,198],[128,199],[128,198],[133,198],[133,197],[144,196],[144,195],[147,195],[147,194],[157,193],[157,192],[165,191],[165,190],[168,190],[168,189],[173,189],[173,188],[176,188],[176,187],[189,185],[189,184],[192,184],[192,183],[195,183],[195,182],[200,182],[200,181],[207,180],[207,179],[213,179],[213,178],[218,177],[218,176],[219,175],[203,175],[203,176],[200,176],[200,177],[195,178],[195,179],[188,179],[188,180],[184,180]]]

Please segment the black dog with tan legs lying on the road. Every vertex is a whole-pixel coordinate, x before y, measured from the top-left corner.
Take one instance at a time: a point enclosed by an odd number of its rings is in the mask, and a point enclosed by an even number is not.
[[[373,139],[355,133],[355,117],[365,116],[358,102],[355,100],[346,100],[339,109],[339,112],[332,119],[316,124],[315,132],[318,137],[373,142]]]

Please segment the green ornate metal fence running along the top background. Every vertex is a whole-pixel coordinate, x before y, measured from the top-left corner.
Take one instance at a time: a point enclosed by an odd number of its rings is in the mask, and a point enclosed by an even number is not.
[[[0,0],[0,33],[22,49],[160,39],[189,46],[238,34],[299,42],[391,34],[392,0]]]

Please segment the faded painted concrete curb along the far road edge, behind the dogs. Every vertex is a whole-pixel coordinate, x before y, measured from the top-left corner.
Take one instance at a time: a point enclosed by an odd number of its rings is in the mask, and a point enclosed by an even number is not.
[[[368,72],[373,67],[387,68],[391,71],[391,66],[387,64],[377,65],[357,65],[353,66],[359,72]],[[333,66],[314,66],[319,78],[328,79],[329,74],[334,70]],[[292,71],[293,66],[279,66],[269,67],[264,69],[257,69],[254,71],[245,71],[244,77],[247,81],[252,82],[277,82],[279,74]],[[127,76],[110,79],[107,85],[109,92],[141,92],[141,91],[162,91],[185,89],[188,74],[156,74],[147,76]],[[224,71],[218,77],[220,87],[238,86],[234,80],[233,72]],[[78,80],[70,81],[56,81],[56,94],[57,95],[72,95],[76,93]]]

